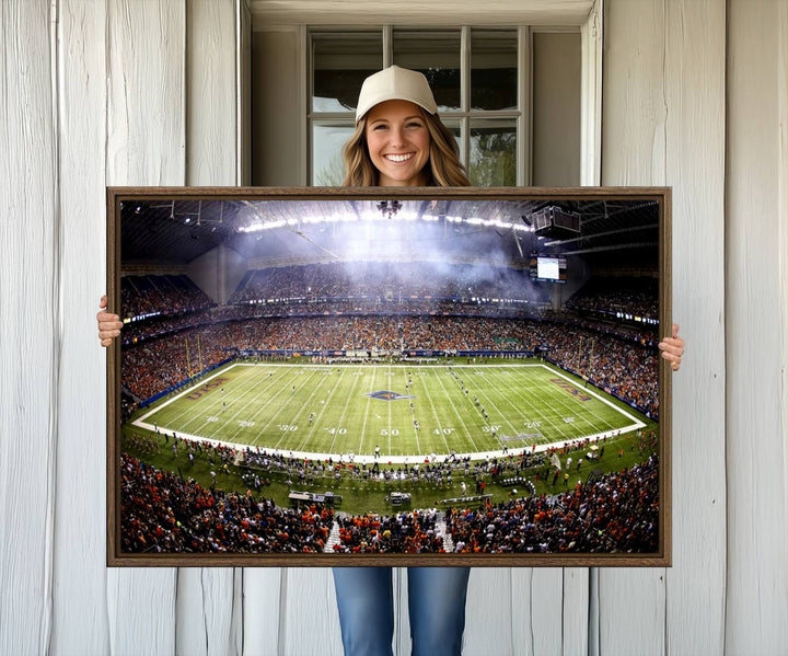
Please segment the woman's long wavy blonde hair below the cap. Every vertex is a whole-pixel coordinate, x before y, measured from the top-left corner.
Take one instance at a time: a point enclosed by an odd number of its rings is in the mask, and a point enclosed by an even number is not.
[[[430,135],[429,162],[424,168],[428,187],[467,187],[471,182],[460,162],[460,149],[454,135],[443,125],[438,114],[421,112]],[[378,186],[379,171],[372,164],[367,148],[367,116],[356,124],[356,131],[343,147],[345,187]]]

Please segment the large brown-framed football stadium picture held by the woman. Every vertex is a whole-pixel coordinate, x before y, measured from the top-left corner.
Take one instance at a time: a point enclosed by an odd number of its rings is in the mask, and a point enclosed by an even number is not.
[[[670,200],[109,187],[108,564],[670,565]]]

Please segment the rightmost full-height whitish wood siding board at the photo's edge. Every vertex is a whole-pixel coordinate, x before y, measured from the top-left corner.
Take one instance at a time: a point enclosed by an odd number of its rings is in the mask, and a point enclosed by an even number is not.
[[[788,645],[786,48],[783,2],[729,2],[728,599],[731,654]],[[783,370],[780,370],[783,367]]]

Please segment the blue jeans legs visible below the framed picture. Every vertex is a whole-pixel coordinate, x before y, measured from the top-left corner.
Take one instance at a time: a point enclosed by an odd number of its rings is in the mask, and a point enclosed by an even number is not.
[[[470,567],[408,567],[413,656],[460,656]],[[392,656],[391,567],[334,567],[345,656]]]

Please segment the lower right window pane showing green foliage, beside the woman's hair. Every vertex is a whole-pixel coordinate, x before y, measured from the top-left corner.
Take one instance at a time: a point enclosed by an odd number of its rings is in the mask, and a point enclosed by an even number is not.
[[[471,122],[468,177],[474,186],[517,184],[517,127],[511,119]]]

